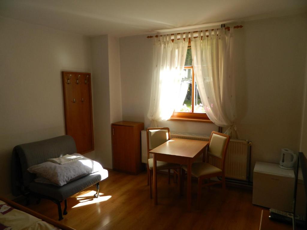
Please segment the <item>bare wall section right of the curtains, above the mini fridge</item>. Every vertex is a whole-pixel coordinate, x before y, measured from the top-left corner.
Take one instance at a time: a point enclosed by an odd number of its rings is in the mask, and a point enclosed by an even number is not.
[[[305,15],[248,21],[236,30],[237,127],[256,161],[299,151],[306,64]],[[299,31],[299,32],[298,32]]]

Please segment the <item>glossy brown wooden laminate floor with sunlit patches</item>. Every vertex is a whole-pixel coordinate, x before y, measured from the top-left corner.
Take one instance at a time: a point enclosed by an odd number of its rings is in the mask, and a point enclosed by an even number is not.
[[[192,181],[192,212],[186,211],[186,189],[179,195],[177,184],[167,184],[167,175],[158,174],[158,205],[149,198],[147,174],[129,175],[109,171],[100,182],[100,197],[92,198],[95,187],[68,199],[68,214],[61,223],[76,229],[259,229],[261,207],[252,205],[252,191],[226,186],[202,190],[201,208],[196,209],[196,181]],[[185,182],[186,186],[186,182]],[[224,198],[224,199],[222,199]],[[64,202],[63,202],[64,203]],[[24,203],[21,203],[24,205]],[[62,208],[64,204],[62,205]],[[54,220],[57,207],[42,199],[31,199],[30,209]]]

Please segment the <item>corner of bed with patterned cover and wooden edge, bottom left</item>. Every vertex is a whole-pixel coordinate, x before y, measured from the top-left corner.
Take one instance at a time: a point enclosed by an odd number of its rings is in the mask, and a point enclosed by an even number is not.
[[[4,197],[0,197],[0,212],[0,230],[76,230]]]

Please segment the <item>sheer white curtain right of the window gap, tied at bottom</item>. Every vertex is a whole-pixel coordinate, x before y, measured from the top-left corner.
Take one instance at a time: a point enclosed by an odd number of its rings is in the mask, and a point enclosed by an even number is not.
[[[227,31],[228,32],[228,31]],[[233,28],[209,30],[209,36],[193,38],[191,48],[194,74],[200,99],[209,119],[216,125],[227,127],[226,134],[238,137],[234,120],[235,78],[232,67]]]

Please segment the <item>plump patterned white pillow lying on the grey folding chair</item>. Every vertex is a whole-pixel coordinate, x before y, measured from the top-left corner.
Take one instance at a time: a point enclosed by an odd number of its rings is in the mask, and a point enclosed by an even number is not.
[[[35,173],[38,177],[49,180],[53,184],[62,186],[87,174],[103,170],[101,164],[96,161],[78,153],[72,155],[81,156],[82,158],[63,165],[47,161],[29,167],[28,171]]]

